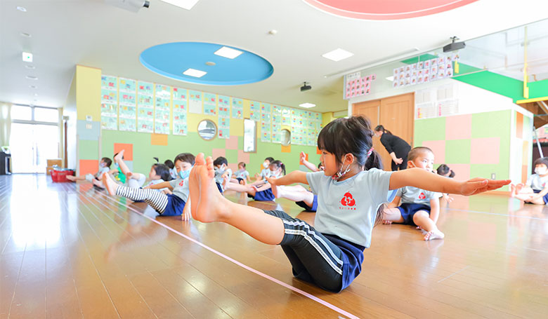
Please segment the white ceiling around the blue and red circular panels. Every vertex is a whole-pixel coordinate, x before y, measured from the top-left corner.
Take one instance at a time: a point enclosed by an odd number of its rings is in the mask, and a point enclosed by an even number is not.
[[[347,105],[342,100],[345,70],[412,48],[419,48],[414,54],[426,52],[445,45],[450,36],[467,40],[541,20],[547,8],[546,0],[480,0],[423,18],[367,21],[339,18],[299,0],[200,0],[191,11],[150,0],[150,8],[138,13],[103,0],[0,0],[0,101],[61,107],[78,64],[131,79],[290,107],[312,102],[318,105],[313,111],[338,111]],[[270,29],[278,34],[269,35]],[[265,57],[274,74],[243,86],[200,86],[164,78],[139,62],[146,48],[175,41],[243,48]],[[321,57],[336,48],[355,55],[340,62]],[[36,69],[25,68],[23,50],[34,54]],[[340,75],[325,78],[328,74]],[[301,93],[303,81],[313,89]]]

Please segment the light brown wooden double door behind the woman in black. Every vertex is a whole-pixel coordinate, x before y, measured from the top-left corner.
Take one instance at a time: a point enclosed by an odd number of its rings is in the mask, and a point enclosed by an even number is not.
[[[367,116],[373,129],[379,124],[384,125],[393,135],[413,145],[415,93],[356,103],[353,104],[352,114]],[[391,170],[392,158],[378,137],[373,137],[373,147],[381,155],[384,170]]]

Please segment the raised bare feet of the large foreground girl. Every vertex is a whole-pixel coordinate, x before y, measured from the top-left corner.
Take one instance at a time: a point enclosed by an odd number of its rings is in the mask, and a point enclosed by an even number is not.
[[[209,223],[220,220],[229,202],[219,193],[214,184],[213,160],[211,156],[204,159],[204,154],[196,156],[193,170],[188,179],[190,189],[190,212],[194,219]]]

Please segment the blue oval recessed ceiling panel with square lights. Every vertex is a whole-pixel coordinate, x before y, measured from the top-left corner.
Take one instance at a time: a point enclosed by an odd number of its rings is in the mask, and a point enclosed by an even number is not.
[[[233,59],[214,54],[226,47]],[[230,50],[233,49],[233,50]],[[171,79],[210,86],[236,86],[268,79],[274,68],[263,57],[239,48],[204,42],[174,42],[152,46],[139,56],[152,72]],[[213,63],[211,63],[213,62]],[[207,63],[207,64],[206,64]],[[188,69],[207,72],[203,76],[183,74]]]

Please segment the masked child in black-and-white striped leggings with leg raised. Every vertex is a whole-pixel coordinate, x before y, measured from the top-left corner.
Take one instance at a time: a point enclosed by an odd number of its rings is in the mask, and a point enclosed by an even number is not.
[[[190,201],[188,189],[188,176],[194,165],[194,155],[190,153],[178,154],[175,158],[175,167],[178,172],[177,179],[169,182],[151,184],[143,189],[130,188],[117,184],[108,174],[103,175],[103,184],[111,196],[122,196],[131,201],[144,201],[154,208],[162,216],[183,215],[183,220],[190,220]],[[169,188],[169,194],[156,191],[156,189]]]

